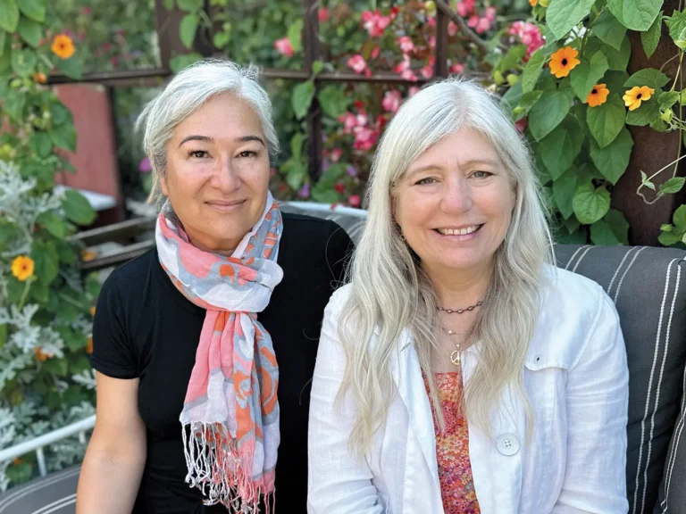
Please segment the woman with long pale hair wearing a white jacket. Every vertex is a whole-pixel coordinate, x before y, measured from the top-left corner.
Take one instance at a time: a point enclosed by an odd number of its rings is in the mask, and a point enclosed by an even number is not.
[[[322,323],[310,514],[628,510],[615,306],[551,245],[527,147],[484,89],[401,106]]]

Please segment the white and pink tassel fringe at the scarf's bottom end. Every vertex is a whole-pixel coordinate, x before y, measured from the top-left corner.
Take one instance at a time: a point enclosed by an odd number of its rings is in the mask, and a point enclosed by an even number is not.
[[[260,496],[264,495],[265,514],[274,513],[274,491],[267,492],[252,478],[253,453],[238,452],[236,439],[225,427],[192,422],[182,426],[181,434],[188,468],[186,483],[202,491],[205,505],[222,503],[232,512],[257,514]]]

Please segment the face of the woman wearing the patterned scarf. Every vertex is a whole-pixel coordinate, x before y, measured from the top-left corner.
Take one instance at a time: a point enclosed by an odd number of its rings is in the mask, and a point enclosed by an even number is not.
[[[260,220],[269,152],[259,116],[237,95],[217,95],[174,128],[164,195],[191,242],[229,252]]]

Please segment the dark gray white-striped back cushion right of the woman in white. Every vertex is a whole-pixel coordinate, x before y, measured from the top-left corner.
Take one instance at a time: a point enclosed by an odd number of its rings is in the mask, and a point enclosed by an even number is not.
[[[629,362],[627,492],[632,514],[650,512],[682,403],[686,361],[686,252],[644,246],[556,247],[558,266],[603,286],[615,301]],[[686,437],[686,435],[684,435]],[[682,443],[683,446],[683,443]],[[686,466],[677,454],[676,471]],[[681,484],[684,484],[682,475]],[[680,483],[680,482],[677,482]],[[683,497],[683,493],[682,493]],[[670,497],[670,510],[686,512]],[[674,503],[672,503],[674,502]]]

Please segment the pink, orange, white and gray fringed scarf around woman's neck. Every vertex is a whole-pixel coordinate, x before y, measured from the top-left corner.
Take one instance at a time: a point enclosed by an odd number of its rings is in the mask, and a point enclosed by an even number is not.
[[[157,219],[163,269],[189,301],[207,310],[180,415],[186,482],[203,492],[205,505],[257,512],[261,494],[268,510],[273,501],[279,367],[256,312],[283,278],[276,263],[282,229],[271,194],[231,257],[198,250],[183,228],[163,214]]]

